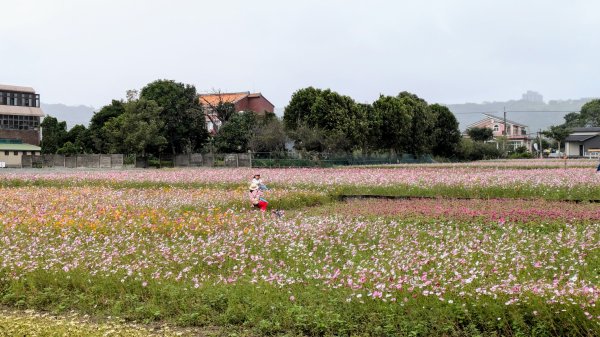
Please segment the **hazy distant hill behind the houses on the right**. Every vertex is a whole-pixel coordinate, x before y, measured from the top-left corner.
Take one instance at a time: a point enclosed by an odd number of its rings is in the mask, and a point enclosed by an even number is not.
[[[461,131],[470,124],[484,119],[481,113],[489,113],[503,117],[506,108],[506,119],[525,124],[529,132],[545,130],[551,125],[564,123],[563,117],[569,112],[579,112],[581,107],[594,98],[580,98],[569,100],[551,100],[547,103],[539,99],[532,101],[525,99],[510,100],[506,102],[483,102],[446,105],[460,123]]]

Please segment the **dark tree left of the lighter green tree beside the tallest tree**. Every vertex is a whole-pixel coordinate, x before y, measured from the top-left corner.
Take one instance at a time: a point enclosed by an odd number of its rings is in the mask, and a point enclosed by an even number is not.
[[[106,134],[104,124],[109,120],[119,117],[125,112],[124,102],[112,100],[109,105],[102,107],[94,113],[90,121],[90,126],[85,137],[85,146],[95,153],[109,153],[110,140]]]

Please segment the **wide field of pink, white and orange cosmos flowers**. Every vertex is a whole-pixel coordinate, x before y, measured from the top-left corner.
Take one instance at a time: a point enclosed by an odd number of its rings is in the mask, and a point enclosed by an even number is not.
[[[537,194],[600,199],[593,170],[262,170],[287,211],[264,220],[252,173],[2,176],[0,304],[248,335],[600,332],[600,207]],[[410,186],[438,198],[336,201]],[[448,198],[509,187],[529,198]]]

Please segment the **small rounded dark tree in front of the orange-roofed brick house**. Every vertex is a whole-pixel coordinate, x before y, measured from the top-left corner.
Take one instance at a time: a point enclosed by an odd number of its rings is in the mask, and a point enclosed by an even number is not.
[[[248,142],[256,125],[256,116],[252,111],[235,114],[225,123],[215,136],[215,147],[219,152],[242,153],[248,151]]]

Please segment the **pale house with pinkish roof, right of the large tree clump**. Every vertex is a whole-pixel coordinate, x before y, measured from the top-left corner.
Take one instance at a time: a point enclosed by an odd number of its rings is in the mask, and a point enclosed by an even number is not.
[[[475,122],[467,127],[470,128],[488,128],[492,129],[494,139],[490,142],[497,142],[498,137],[506,136],[508,138],[507,146],[511,149],[516,149],[520,146],[525,146],[531,150],[531,139],[528,136],[527,125],[506,120],[506,133],[504,132],[504,118],[491,114],[483,114],[486,118]]]

